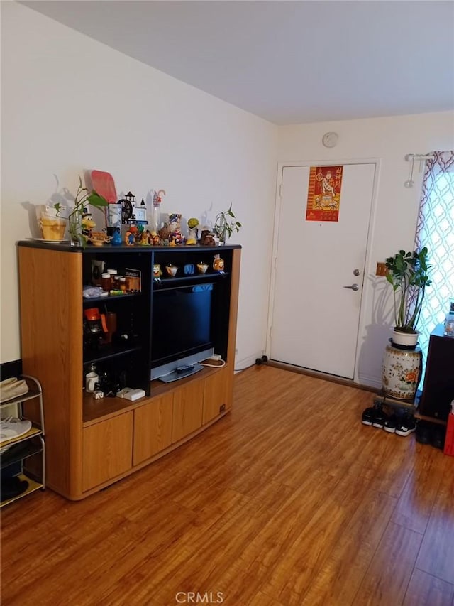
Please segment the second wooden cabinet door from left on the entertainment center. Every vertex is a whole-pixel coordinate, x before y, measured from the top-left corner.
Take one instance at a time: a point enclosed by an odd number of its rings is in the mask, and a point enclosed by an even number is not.
[[[135,409],[133,465],[172,444],[172,404],[173,394],[170,393]]]

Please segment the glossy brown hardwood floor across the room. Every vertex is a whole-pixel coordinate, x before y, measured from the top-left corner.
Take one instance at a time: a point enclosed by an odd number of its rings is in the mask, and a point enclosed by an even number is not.
[[[237,374],[231,414],[174,453],[2,509],[2,606],[453,606],[454,458],[363,426],[371,402]]]

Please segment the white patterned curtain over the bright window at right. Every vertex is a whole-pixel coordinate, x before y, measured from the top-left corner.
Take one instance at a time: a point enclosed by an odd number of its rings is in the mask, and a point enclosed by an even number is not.
[[[443,323],[454,297],[454,151],[435,151],[426,162],[415,249],[428,248],[431,286],[426,288],[418,330],[423,351],[423,377],[428,340]],[[422,387],[419,384],[419,389]]]

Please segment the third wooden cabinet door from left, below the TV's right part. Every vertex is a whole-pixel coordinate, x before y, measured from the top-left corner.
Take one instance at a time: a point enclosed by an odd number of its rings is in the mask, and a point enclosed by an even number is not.
[[[176,389],[173,396],[172,443],[201,427],[204,381],[196,380]]]

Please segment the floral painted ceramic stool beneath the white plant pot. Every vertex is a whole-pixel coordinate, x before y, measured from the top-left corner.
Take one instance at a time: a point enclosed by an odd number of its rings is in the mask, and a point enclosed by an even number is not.
[[[398,400],[414,400],[421,380],[422,352],[402,350],[387,345],[382,364],[382,384],[387,396]]]

